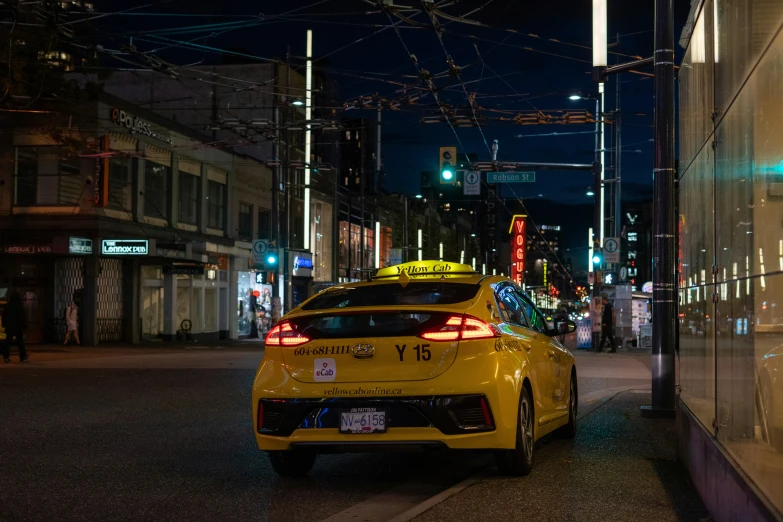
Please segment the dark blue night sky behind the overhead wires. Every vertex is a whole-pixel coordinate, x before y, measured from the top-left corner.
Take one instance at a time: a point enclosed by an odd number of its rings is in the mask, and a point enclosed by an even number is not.
[[[459,22],[444,23],[443,45],[429,28],[415,28],[400,23],[399,35],[388,28],[389,18],[377,6],[362,0],[286,0],[254,3],[224,2],[220,16],[200,17],[217,13],[215,2],[201,0],[159,0],[153,2],[96,2],[101,12],[136,8],[124,15],[114,15],[96,21],[104,33],[107,46],[128,43],[128,36],[137,33],[134,44],[141,50],[153,49],[143,41],[145,30],[202,24],[238,23],[244,27],[225,26],[207,32],[173,36],[216,48],[240,51],[260,58],[285,56],[286,46],[291,53],[303,56],[305,31],[314,31],[316,66],[329,72],[337,80],[343,100],[360,95],[378,93],[389,99],[402,95],[403,87],[415,85],[417,70],[411,63],[402,41],[416,55],[423,69],[441,73],[448,69],[446,53],[454,63],[463,67],[460,76],[469,93],[477,92],[479,106],[486,109],[487,118],[513,117],[515,111],[535,109],[587,109],[594,112],[592,100],[570,101],[572,92],[595,93],[590,78],[591,70],[591,1],[550,0],[522,2],[520,0],[463,0],[453,2],[443,11],[459,16],[479,9],[469,18],[485,26]],[[398,5],[419,7],[419,0],[397,0]],[[104,5],[102,5],[104,4]],[[675,2],[675,42],[688,14],[687,2]],[[110,7],[109,7],[110,6]],[[610,63],[620,63],[636,56],[650,56],[653,50],[653,2],[609,2]],[[107,11],[111,9],[111,11]],[[143,13],[181,13],[191,16],[153,16]],[[237,15],[244,15],[242,18]],[[253,17],[259,16],[254,19]],[[398,19],[394,19],[397,21]],[[425,14],[412,17],[414,22],[429,26]],[[386,27],[386,29],[384,29]],[[381,30],[383,29],[383,30]],[[509,30],[516,31],[510,32]],[[212,36],[204,37],[212,33]],[[373,34],[377,33],[377,34]],[[200,38],[199,38],[200,37]],[[198,38],[197,40],[194,40]],[[354,43],[359,39],[363,40]],[[558,40],[557,42],[552,40]],[[445,47],[445,50],[444,50]],[[678,61],[682,50],[675,45]],[[479,58],[478,52],[481,54]],[[177,64],[220,63],[216,52],[164,49],[158,55]],[[297,63],[295,60],[294,64]],[[301,62],[299,62],[301,63]],[[120,66],[111,59],[106,66]],[[647,69],[651,72],[651,69]],[[498,78],[501,76],[502,78]],[[653,82],[649,76],[624,74],[613,77],[607,84],[606,108],[615,108],[615,89],[619,79],[622,92],[621,109],[625,114],[623,125],[623,192],[624,198],[652,197],[652,124]],[[480,81],[478,81],[480,80]],[[390,83],[396,82],[396,84]],[[436,79],[441,89],[441,101],[466,108],[467,101],[459,81],[446,77]],[[416,92],[408,90],[408,92]],[[507,111],[507,113],[491,112]],[[360,115],[357,110],[351,116]],[[588,125],[529,125],[489,121],[478,128],[457,128],[455,132],[446,123],[422,124],[425,115],[438,114],[432,96],[427,96],[415,107],[384,113],[383,163],[386,170],[386,188],[390,191],[415,194],[419,188],[420,172],[437,170],[438,148],[454,145],[461,152],[472,152],[479,160],[489,160],[486,143],[500,142],[498,159],[502,161],[592,162],[594,126]],[[367,111],[373,118],[373,111]],[[558,135],[553,136],[554,133]],[[607,127],[607,134],[612,129]],[[612,142],[607,137],[607,148]],[[611,154],[607,154],[607,159]],[[577,172],[538,173],[535,185],[517,185],[514,194],[529,197],[543,194],[545,199],[566,204],[585,204],[591,198],[585,195],[590,175]],[[506,196],[512,193],[506,191]],[[557,216],[540,216],[537,221],[557,220]]]

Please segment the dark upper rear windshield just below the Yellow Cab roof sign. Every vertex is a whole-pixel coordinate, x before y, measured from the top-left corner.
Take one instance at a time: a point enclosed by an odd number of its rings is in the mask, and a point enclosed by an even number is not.
[[[329,290],[315,296],[303,310],[330,308],[357,308],[361,306],[449,305],[470,301],[479,291],[479,285],[465,283],[398,282]]]

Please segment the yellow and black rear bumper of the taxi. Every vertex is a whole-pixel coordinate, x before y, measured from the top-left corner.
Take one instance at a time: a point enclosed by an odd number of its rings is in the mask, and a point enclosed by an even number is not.
[[[437,377],[350,383],[296,381],[280,351],[268,349],[253,384],[253,432],[259,449],[513,449],[527,363],[495,350],[491,343],[465,344],[460,344],[461,356]],[[479,422],[485,419],[484,411],[475,403],[481,397],[491,419],[491,426],[484,429],[478,426],[485,424]],[[261,426],[259,402],[264,403],[265,414],[276,413],[265,415]],[[460,409],[455,408],[460,402],[466,411],[458,414],[454,410]],[[353,407],[385,409],[387,431],[340,433],[339,414]],[[464,429],[466,426],[469,429]]]

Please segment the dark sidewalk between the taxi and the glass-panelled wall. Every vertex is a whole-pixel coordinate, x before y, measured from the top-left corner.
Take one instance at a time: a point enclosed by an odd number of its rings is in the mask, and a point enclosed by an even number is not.
[[[547,437],[528,477],[492,475],[415,520],[708,520],[676,459],[675,421],[642,419],[649,392],[616,395],[579,422],[573,441]]]

